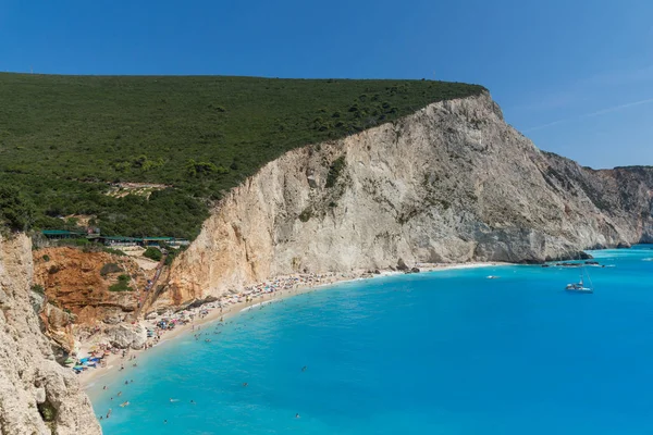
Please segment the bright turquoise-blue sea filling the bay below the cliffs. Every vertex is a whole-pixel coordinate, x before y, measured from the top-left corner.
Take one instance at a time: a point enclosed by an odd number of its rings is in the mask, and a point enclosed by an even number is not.
[[[652,434],[653,250],[593,254],[593,295],[564,291],[578,270],[520,265],[288,298],[89,394],[107,435]]]

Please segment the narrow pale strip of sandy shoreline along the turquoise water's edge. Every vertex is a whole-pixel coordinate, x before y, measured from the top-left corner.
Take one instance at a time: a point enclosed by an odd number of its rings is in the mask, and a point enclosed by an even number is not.
[[[510,265],[510,264],[498,263],[498,262],[420,263],[417,265],[417,268],[420,270],[420,272],[415,273],[415,274],[451,271],[451,270],[501,266],[501,265]],[[184,333],[192,332],[196,327],[201,327],[205,324],[219,321],[219,320],[221,320],[221,318],[223,320],[230,319],[230,318],[232,318],[241,312],[244,312],[248,309],[251,309],[252,307],[256,307],[256,306],[273,303],[275,301],[281,301],[281,300],[289,298],[289,297],[294,297],[294,296],[298,296],[298,295],[303,295],[303,294],[307,294],[307,293],[311,293],[311,291],[316,291],[316,290],[326,289],[326,288],[333,287],[334,285],[342,285],[342,284],[346,284],[349,282],[356,282],[356,281],[362,281],[362,279],[373,279],[373,278],[380,278],[380,277],[387,277],[387,276],[397,276],[397,275],[404,275],[404,274],[407,274],[407,273],[402,272],[402,271],[392,271],[392,270],[382,271],[380,273],[369,273],[369,271],[367,271],[367,270],[359,270],[359,271],[342,272],[342,273],[333,273],[333,274],[317,274],[316,276],[320,276],[320,277],[323,276],[325,278],[325,282],[321,282],[321,279],[320,279],[317,284],[308,284],[308,285],[304,285],[304,286],[298,286],[296,288],[284,288],[284,289],[281,289],[278,291],[272,291],[272,293],[262,293],[262,294],[258,294],[254,297],[247,297],[246,300],[244,300],[244,301],[230,303],[226,307],[223,306],[221,308],[217,307],[217,302],[207,302],[202,306],[186,310],[186,311],[192,312],[195,315],[193,322],[189,322],[184,325],[178,325],[174,330],[165,332],[165,334],[162,335],[161,338],[157,341],[157,344],[153,344],[150,347],[150,349],[153,347],[161,346],[168,341],[171,341]],[[282,276],[281,278],[286,278],[286,279],[295,278],[295,276],[303,276],[303,275],[304,274],[286,275],[286,276]],[[267,282],[258,284],[256,286],[260,286],[268,282],[273,282],[279,278],[280,277],[270,278]],[[252,287],[256,287],[256,286],[252,286]],[[243,296],[244,296],[243,293],[238,295],[238,297],[243,297]],[[197,314],[200,313],[202,310],[209,310],[209,312],[206,315],[198,316]],[[150,319],[150,320],[145,320],[145,319],[139,320],[138,322],[135,322],[134,324],[139,324],[146,328],[152,328],[152,327],[155,327],[155,325],[161,318],[163,318],[163,315],[157,315],[156,318]],[[78,355],[90,353],[89,349],[93,347],[93,345],[94,345],[93,343],[81,344]],[[104,366],[98,366],[96,369],[85,370],[84,372],[82,372],[77,375],[77,378],[79,380],[79,383],[84,389],[89,389],[89,388],[94,387],[101,378],[103,378],[110,374],[116,374],[119,372],[119,369],[121,365],[124,365],[124,370],[126,370],[128,372],[130,369],[132,369],[132,363],[134,363],[132,358],[135,358],[135,360],[137,361],[137,357],[140,353],[146,352],[147,350],[148,350],[147,348],[127,349],[124,358],[121,355],[113,355],[113,353],[109,355],[109,356],[104,357],[104,362],[106,362]]]

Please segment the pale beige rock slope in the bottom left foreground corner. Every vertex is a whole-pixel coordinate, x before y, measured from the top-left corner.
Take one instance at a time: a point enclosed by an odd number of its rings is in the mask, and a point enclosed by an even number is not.
[[[100,434],[86,394],[41,334],[32,274],[29,239],[0,237],[0,434]]]

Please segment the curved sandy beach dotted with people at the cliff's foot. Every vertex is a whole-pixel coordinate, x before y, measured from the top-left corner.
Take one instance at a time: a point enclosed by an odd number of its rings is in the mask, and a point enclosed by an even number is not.
[[[435,272],[435,271],[447,271],[447,270],[459,270],[459,269],[473,269],[473,268],[485,268],[485,266],[497,266],[506,265],[505,263],[443,263],[443,264],[427,264],[420,263],[417,265],[420,273]],[[319,289],[329,288],[336,284],[343,284],[346,282],[359,281],[359,279],[372,279],[390,275],[403,275],[405,272],[401,271],[381,271],[379,274],[370,274],[368,271],[355,271],[344,273],[323,273],[323,274],[296,274],[286,275],[275,278],[268,279],[263,283],[247,286],[235,295],[225,295],[221,297],[219,301],[208,302],[200,307],[182,310],[185,318],[192,318],[193,321],[186,324],[180,324],[172,331],[161,332],[159,339],[148,339],[148,346],[145,349],[126,349],[125,357],[122,353],[111,353],[103,358],[103,366],[97,366],[95,369],[87,369],[78,374],[79,382],[84,388],[94,386],[96,383],[101,382],[101,378],[115,373],[120,370],[121,365],[124,366],[125,373],[128,373],[133,369],[133,364],[138,361],[138,356],[141,352],[146,352],[149,348],[159,346],[165,341],[177,337],[181,334],[193,331],[204,324],[218,321],[220,319],[229,319],[248,308],[272,303],[275,300],[310,293]],[[280,285],[280,283],[282,285]],[[257,289],[264,289],[263,291],[256,293]],[[202,314],[204,313],[204,314]],[[159,314],[156,318],[149,320],[140,320],[138,323],[146,327],[155,330],[156,325],[163,318],[171,318],[178,313],[172,311]],[[84,358],[90,355],[90,350],[96,347],[98,343],[94,340],[89,343],[82,343],[77,356]],[[132,360],[132,359],[135,360]]]

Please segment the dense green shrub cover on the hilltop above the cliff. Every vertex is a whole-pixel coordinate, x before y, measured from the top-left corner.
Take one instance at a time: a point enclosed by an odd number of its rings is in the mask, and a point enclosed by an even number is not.
[[[83,214],[97,216],[90,224],[103,234],[194,238],[211,201],[285,151],[482,90],[431,80],[0,74],[0,186],[22,194],[5,191],[19,213],[4,220],[62,228],[59,216]],[[169,187],[143,195],[109,184],[124,182]]]

